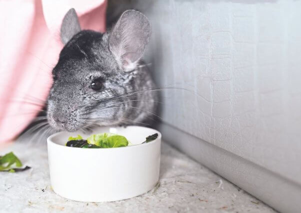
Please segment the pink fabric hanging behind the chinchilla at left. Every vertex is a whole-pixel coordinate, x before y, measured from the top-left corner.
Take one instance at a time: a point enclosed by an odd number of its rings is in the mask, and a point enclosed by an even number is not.
[[[104,32],[106,0],[0,0],[0,143],[12,140],[41,109],[63,46],[59,28],[75,8],[82,29]]]

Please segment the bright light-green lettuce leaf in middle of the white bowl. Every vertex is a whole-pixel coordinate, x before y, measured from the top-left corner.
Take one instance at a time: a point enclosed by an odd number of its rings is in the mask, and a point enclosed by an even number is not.
[[[88,137],[87,142],[88,144],[93,144],[101,148],[126,147],[128,145],[128,141],[124,136],[112,133],[91,135]]]

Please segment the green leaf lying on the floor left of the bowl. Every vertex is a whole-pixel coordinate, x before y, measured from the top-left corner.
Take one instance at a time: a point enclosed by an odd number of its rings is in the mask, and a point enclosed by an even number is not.
[[[13,154],[13,152],[0,156],[0,172],[21,172],[30,169],[30,167],[27,166],[25,168],[15,168],[21,166],[21,161]]]

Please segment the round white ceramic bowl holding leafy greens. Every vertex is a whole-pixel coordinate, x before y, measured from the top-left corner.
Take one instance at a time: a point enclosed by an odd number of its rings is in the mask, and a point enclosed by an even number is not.
[[[132,198],[151,190],[159,178],[161,134],[139,126],[98,128],[123,135],[132,146],[105,149],[66,147],[69,136],[59,132],[47,138],[50,182],[61,197],[82,202],[108,202]],[[141,144],[158,133],[156,140]]]

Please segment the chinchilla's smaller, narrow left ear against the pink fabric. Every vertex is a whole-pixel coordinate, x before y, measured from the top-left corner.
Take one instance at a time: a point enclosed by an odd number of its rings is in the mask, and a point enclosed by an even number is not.
[[[75,9],[71,8],[67,11],[60,26],[60,39],[66,44],[77,32],[80,31],[80,25]]]

